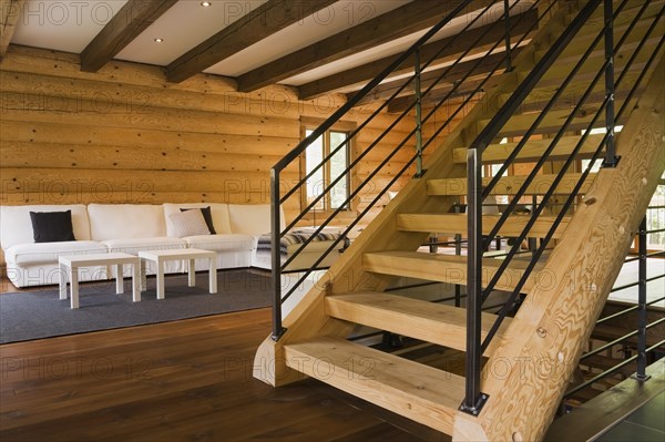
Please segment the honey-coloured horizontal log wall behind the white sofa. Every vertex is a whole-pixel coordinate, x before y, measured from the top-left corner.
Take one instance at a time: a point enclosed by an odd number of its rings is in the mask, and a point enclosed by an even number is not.
[[[172,84],[160,68],[126,62],[86,73],[75,54],[14,45],[0,64],[0,93],[6,205],[268,203],[269,169],[297,145],[300,117],[325,119],[344,103],[342,95],[301,102],[279,85],[237,93],[233,80],[204,74]],[[346,120],[359,123],[370,111],[355,110]],[[393,119],[383,113],[370,123],[356,154]],[[409,131],[398,124],[355,179],[367,177]],[[405,150],[412,147],[410,140]],[[386,164],[357,207],[408,156],[399,152]],[[283,173],[286,186],[298,176],[297,161]],[[297,202],[286,207],[287,217]]]

